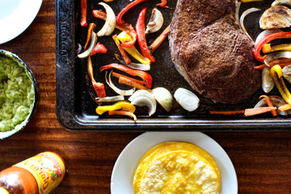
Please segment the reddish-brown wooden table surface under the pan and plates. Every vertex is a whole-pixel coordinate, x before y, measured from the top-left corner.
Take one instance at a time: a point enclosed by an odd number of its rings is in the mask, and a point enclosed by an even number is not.
[[[40,104],[29,125],[0,142],[0,170],[42,151],[65,160],[68,173],[53,194],[110,194],[114,162],[140,132],[73,132],[56,118],[55,1],[43,0],[32,25],[0,45],[32,69]],[[291,132],[207,132],[227,152],[240,194],[291,194]]]

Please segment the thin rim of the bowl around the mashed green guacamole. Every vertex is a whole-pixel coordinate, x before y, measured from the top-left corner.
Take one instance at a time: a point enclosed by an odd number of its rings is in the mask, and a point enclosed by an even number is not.
[[[37,102],[38,97],[37,97],[37,83],[36,83],[36,80],[32,74],[32,70],[16,54],[13,54],[9,51],[0,49],[0,56],[11,58],[12,60],[16,61],[17,63],[20,63],[21,65],[23,65],[26,68],[28,74],[32,78],[32,84],[33,84],[33,88],[34,88],[34,99],[33,99],[33,107],[32,107],[31,113],[26,117],[24,122],[22,122],[21,126],[19,126],[17,129],[5,131],[5,132],[0,132],[0,140],[3,140],[3,139],[6,139],[6,138],[16,134],[20,130],[22,130],[27,125],[27,123],[32,119],[32,116],[33,116],[35,109],[36,109],[36,102]]]

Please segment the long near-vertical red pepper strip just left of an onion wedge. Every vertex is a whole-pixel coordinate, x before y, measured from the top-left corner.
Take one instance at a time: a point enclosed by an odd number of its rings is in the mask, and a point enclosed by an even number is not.
[[[151,55],[147,44],[146,44],[146,29],[145,29],[145,17],[146,17],[146,8],[142,9],[140,12],[136,25],[135,31],[137,33],[137,42],[141,48],[141,52],[144,57],[148,58],[151,63],[157,62],[156,59]]]

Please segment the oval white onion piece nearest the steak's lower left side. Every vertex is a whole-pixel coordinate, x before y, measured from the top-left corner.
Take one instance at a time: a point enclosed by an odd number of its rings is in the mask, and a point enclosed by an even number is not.
[[[189,112],[196,110],[200,103],[199,98],[194,93],[184,88],[176,90],[174,97],[177,102]]]

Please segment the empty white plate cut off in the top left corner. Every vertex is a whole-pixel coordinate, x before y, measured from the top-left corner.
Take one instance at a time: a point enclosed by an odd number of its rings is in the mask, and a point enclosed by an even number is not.
[[[42,0],[0,0],[0,44],[21,34],[37,15]]]

